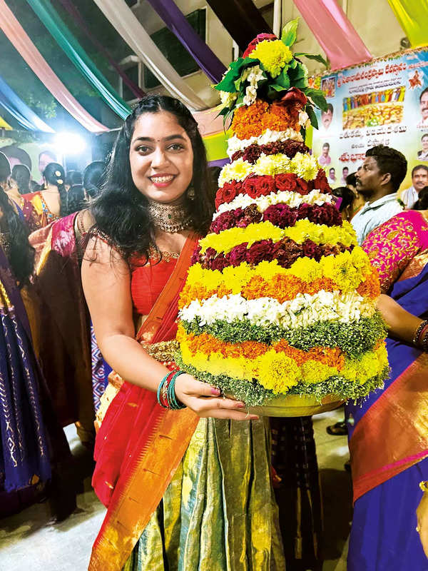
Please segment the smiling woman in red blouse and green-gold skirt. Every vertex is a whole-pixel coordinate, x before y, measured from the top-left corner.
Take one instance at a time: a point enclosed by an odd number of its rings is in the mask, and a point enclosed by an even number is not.
[[[116,370],[107,391],[121,387],[96,439],[93,487],[108,512],[91,571],[285,568],[268,426],[173,362],[178,297],[210,196],[190,111],[144,98],[118,135],[82,263],[98,345]]]

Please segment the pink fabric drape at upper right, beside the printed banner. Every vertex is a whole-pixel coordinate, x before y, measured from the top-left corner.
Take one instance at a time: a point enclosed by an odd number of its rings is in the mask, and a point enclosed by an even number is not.
[[[360,36],[336,0],[294,0],[332,70],[372,59]]]

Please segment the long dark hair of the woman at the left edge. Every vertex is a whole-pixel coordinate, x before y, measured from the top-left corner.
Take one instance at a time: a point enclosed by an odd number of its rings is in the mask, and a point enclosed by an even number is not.
[[[34,268],[34,248],[29,243],[29,229],[21,220],[9,200],[6,188],[11,176],[11,166],[4,153],[0,153],[0,231],[4,250],[19,286],[29,281]]]

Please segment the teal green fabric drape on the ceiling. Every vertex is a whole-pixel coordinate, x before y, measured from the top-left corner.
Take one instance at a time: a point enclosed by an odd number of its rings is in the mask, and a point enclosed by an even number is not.
[[[83,77],[93,86],[98,94],[101,95],[107,105],[122,119],[126,119],[131,108],[118,96],[115,89],[101,74],[91,58],[88,57],[86,51],[83,50],[76,38],[68,30],[57,12],[47,0],[27,0],[28,4],[39,17],[42,24],[46,26],[49,34],[54,38],[58,46],[63,50],[64,54],[81,72]]]

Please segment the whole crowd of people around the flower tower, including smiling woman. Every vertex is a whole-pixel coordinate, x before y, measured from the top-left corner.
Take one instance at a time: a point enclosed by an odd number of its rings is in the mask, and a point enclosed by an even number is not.
[[[400,200],[406,174],[402,153],[376,146],[332,191],[379,271],[391,367],[332,427],[350,445],[350,571],[427,568],[428,168]],[[31,193],[29,169],[0,153],[1,515],[43,497],[58,520],[73,511],[61,427],[76,423],[108,507],[91,569],[321,570],[312,420],[269,423],[169,376],[178,295],[215,208],[190,111],[147,96],[106,166],[48,162],[43,176]],[[165,378],[180,413],[158,405]]]

